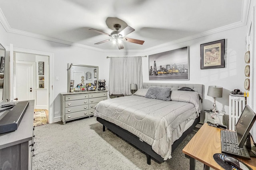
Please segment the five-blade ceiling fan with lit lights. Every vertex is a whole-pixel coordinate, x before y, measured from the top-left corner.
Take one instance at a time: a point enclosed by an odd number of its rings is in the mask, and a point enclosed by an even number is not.
[[[120,28],[121,28],[120,24],[114,24],[114,29],[116,29],[116,31],[112,31],[110,34],[104,33],[102,31],[99,31],[99,30],[96,30],[96,29],[89,29],[89,30],[95,31],[97,33],[105,34],[105,35],[108,35],[108,36],[111,37],[110,39],[100,41],[100,42],[95,43],[95,44],[101,44],[101,43],[105,43],[107,41],[115,41],[115,43],[118,45],[118,49],[123,49],[124,46],[122,45],[121,40],[122,41],[128,41],[130,43],[141,44],[141,45],[144,43],[144,41],[139,40],[139,39],[132,39],[132,38],[125,37],[129,33],[132,33],[133,31],[135,31],[135,29],[133,29],[132,27],[127,26],[122,31],[119,31]]]

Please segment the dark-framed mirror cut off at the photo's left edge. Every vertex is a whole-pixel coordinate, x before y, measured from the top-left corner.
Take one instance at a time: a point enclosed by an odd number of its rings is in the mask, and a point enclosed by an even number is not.
[[[0,44],[0,102],[3,100],[4,94],[4,61],[5,48]]]

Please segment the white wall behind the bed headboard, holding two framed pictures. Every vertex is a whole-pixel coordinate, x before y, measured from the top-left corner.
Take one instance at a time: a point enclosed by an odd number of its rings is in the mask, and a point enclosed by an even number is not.
[[[153,51],[149,51],[144,55],[152,55],[189,46],[190,57],[190,78],[189,80],[149,80],[148,57],[143,59],[143,82],[159,82],[159,83],[189,83],[204,84],[204,102],[203,109],[213,108],[213,98],[207,96],[208,86],[223,87],[222,98],[216,99],[216,107],[219,111],[226,114],[229,112],[229,93],[236,88],[244,90],[244,53],[245,53],[245,35],[246,26],[230,29],[220,33],[200,37],[190,41],[162,47]],[[225,39],[225,68],[200,69],[200,44]],[[241,64],[242,63],[242,64]],[[201,119],[201,121],[204,117]]]

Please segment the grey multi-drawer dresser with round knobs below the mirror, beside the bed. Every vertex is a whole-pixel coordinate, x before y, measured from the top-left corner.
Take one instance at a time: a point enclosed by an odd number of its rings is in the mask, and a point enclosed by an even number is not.
[[[106,100],[108,91],[68,92],[61,95],[61,120],[66,121],[94,115],[98,102]]]

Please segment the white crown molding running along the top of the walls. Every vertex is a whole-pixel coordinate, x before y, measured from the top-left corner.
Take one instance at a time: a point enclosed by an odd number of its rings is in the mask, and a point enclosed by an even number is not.
[[[168,42],[168,43],[164,43],[164,44],[161,44],[161,45],[156,45],[156,46],[150,47],[148,49],[125,50],[125,52],[144,53],[144,52],[152,51],[152,50],[155,50],[155,49],[163,48],[163,47],[166,47],[166,46],[174,45],[174,44],[177,44],[177,43],[182,43],[184,41],[189,41],[189,40],[192,40],[192,39],[204,37],[206,35],[211,35],[211,34],[219,33],[219,32],[222,32],[222,31],[229,30],[229,29],[242,27],[242,26],[246,25],[246,23],[247,23],[248,16],[249,16],[248,15],[249,7],[250,7],[250,0],[242,0],[242,17],[241,17],[241,21],[239,21],[239,22],[232,23],[232,24],[229,24],[229,25],[226,25],[226,26],[223,26],[223,27],[219,27],[219,28],[216,28],[216,29],[212,29],[210,31],[205,31],[203,33],[198,33],[196,35],[192,35],[192,36],[189,36],[189,37],[184,37],[182,39],[178,39],[178,40],[171,41],[171,42]],[[47,41],[62,43],[62,44],[66,44],[66,45],[72,45],[72,46],[76,46],[76,47],[80,47],[80,48],[84,48],[84,49],[99,51],[99,52],[102,52],[102,53],[120,53],[121,52],[118,49],[116,49],[116,50],[100,49],[100,48],[95,48],[95,47],[91,47],[91,46],[88,46],[88,45],[82,45],[82,44],[79,44],[79,43],[72,43],[70,41],[64,41],[64,40],[60,40],[60,39],[56,39],[56,38],[52,38],[52,37],[47,37],[47,36],[44,36],[44,35],[39,35],[39,34],[35,34],[35,33],[21,31],[21,30],[18,30],[18,29],[13,29],[13,28],[10,27],[10,25],[9,25],[8,21],[6,20],[6,18],[5,18],[1,9],[0,9],[0,22],[2,23],[6,32],[8,32],[8,33],[15,33],[15,34],[19,34],[19,35],[28,36],[28,37],[44,39],[44,40],[47,40]],[[124,52],[124,51],[122,51],[122,52]]]

